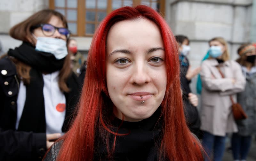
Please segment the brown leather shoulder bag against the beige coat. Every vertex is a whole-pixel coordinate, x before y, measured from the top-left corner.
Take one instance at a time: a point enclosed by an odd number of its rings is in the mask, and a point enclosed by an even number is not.
[[[217,66],[217,69],[219,70],[221,77],[225,78],[224,74],[220,70],[220,67]],[[235,120],[246,119],[247,115],[245,114],[242,106],[238,103],[235,103],[234,100],[233,100],[233,97],[231,95],[229,97],[230,97],[230,100],[232,102],[231,108],[232,108],[232,112],[233,112],[233,115],[234,115],[234,119]]]

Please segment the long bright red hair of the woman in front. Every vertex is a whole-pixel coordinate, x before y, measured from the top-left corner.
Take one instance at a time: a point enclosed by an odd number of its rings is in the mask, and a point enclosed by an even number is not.
[[[154,22],[161,32],[166,60],[167,87],[161,104],[164,120],[160,156],[174,161],[203,160],[201,145],[190,133],[183,112],[180,92],[180,69],[178,46],[168,24],[150,7],[139,5],[122,7],[111,12],[100,24],[92,39],[87,59],[87,70],[76,119],[63,136],[58,160],[91,161],[95,151],[95,131],[108,140],[113,117],[112,101],[106,84],[106,39],[110,27],[118,21],[146,18]],[[99,134],[97,134],[99,135]],[[107,148],[108,148],[108,143]],[[109,152],[109,150],[108,150]]]

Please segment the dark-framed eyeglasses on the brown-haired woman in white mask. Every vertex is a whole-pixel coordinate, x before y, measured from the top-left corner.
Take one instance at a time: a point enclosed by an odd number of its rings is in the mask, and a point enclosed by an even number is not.
[[[70,36],[70,31],[64,27],[55,27],[51,24],[40,24],[40,25],[36,25],[35,27],[42,27],[42,31],[45,36],[52,36],[56,31],[56,29],[60,34],[66,36],[67,39]]]

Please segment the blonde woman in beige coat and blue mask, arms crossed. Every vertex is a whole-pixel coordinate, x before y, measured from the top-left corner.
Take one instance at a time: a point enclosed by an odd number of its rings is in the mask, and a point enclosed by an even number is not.
[[[202,63],[201,129],[203,146],[213,160],[221,161],[227,133],[237,132],[230,95],[236,102],[236,93],[244,90],[245,78],[240,65],[229,60],[227,42],[220,37],[209,41],[210,57]],[[225,76],[222,78],[221,73]],[[208,160],[205,157],[205,160]]]

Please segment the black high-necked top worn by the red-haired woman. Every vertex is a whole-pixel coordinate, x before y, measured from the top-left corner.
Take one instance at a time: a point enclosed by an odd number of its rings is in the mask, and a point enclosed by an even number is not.
[[[156,161],[158,160],[157,149],[160,148],[160,138],[162,121],[160,117],[160,107],[148,119],[139,122],[123,121],[118,130],[119,134],[125,136],[116,137],[115,152],[113,159],[115,161]],[[158,121],[158,122],[157,122]],[[115,118],[113,125],[118,127],[122,120]],[[115,135],[111,134],[109,139],[110,149],[113,147]],[[94,160],[110,160],[107,157],[107,149],[104,141],[95,142]],[[157,147],[156,147],[157,145]]]

